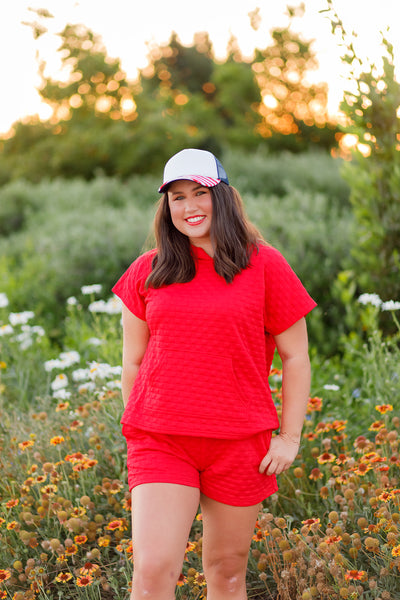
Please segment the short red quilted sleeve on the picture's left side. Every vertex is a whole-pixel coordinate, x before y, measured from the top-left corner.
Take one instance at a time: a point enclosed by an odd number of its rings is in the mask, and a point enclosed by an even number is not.
[[[146,279],[151,272],[155,251],[146,252],[137,258],[112,288],[125,306],[142,321],[146,320]]]

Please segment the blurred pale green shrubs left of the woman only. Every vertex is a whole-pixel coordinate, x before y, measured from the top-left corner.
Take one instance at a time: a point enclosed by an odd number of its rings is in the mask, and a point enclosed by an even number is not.
[[[34,305],[59,336],[66,298],[87,283],[100,281],[111,288],[149,232],[153,208],[146,208],[143,198],[156,196],[155,182],[136,183],[100,177],[90,183],[42,182],[34,188],[16,182],[1,190],[6,198],[16,192],[24,192],[26,202],[35,197],[36,210],[24,227],[0,240],[1,288],[17,309]]]

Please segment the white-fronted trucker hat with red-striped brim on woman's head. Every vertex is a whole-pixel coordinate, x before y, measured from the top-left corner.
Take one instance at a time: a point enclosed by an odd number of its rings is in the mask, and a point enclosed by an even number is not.
[[[205,187],[214,187],[221,181],[229,185],[225,169],[218,158],[207,150],[196,148],[185,148],[169,159],[158,191],[165,192],[166,187],[177,179],[189,179]]]

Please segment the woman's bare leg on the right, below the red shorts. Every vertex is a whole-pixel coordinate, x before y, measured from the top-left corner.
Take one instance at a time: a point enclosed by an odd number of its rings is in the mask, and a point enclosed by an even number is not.
[[[204,495],[200,503],[207,600],[246,600],[247,561],[260,504],[230,506]]]

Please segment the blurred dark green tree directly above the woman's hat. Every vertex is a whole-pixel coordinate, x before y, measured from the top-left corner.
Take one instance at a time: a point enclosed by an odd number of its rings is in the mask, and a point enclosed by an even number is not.
[[[139,121],[150,93],[161,103],[169,99],[167,115],[183,119],[189,135],[202,131],[207,147],[258,144],[260,92],[251,64],[243,60],[233,38],[226,60],[217,63],[208,34],[195,34],[186,47],[173,33],[166,45],[151,49],[140,81]]]

